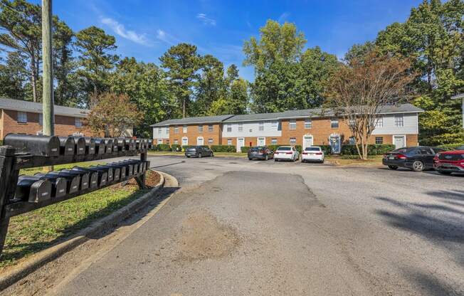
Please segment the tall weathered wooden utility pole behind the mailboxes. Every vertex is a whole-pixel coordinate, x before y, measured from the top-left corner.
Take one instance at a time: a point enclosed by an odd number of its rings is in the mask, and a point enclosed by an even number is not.
[[[43,134],[55,134],[55,112],[53,99],[53,60],[52,60],[52,0],[42,0],[42,56],[43,56]]]

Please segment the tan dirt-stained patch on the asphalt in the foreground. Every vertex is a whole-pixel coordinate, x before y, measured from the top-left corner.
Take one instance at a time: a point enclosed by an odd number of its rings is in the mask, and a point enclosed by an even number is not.
[[[177,241],[179,260],[204,260],[231,254],[241,240],[235,228],[219,223],[204,209],[192,212],[182,222]]]

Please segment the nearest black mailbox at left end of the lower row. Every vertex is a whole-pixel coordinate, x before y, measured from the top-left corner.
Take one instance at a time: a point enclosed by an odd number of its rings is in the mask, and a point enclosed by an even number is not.
[[[38,203],[51,198],[51,182],[34,176],[19,176],[16,185],[16,199]]]

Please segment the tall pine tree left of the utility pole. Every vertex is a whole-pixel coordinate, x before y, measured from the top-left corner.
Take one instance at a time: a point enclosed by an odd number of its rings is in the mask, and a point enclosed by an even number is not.
[[[0,44],[26,54],[29,59],[33,102],[37,102],[37,80],[41,60],[41,6],[25,0],[0,1]]]

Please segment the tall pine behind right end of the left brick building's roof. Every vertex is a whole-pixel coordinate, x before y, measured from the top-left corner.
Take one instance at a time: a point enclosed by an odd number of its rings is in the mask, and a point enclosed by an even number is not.
[[[116,40],[95,26],[79,31],[76,38],[75,45],[82,67],[78,74],[86,80],[88,97],[85,104],[89,105],[90,94],[97,97],[108,89],[107,76],[117,61],[117,56],[111,53],[117,48]]]

